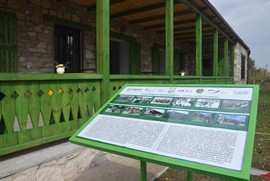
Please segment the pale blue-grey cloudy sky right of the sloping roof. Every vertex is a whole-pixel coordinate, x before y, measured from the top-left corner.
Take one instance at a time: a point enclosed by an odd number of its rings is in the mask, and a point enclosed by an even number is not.
[[[257,68],[270,71],[270,0],[209,0],[251,50]]]

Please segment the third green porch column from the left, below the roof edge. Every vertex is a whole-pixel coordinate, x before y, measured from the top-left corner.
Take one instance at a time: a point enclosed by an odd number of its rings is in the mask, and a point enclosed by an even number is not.
[[[196,76],[202,76],[202,17],[196,17]]]

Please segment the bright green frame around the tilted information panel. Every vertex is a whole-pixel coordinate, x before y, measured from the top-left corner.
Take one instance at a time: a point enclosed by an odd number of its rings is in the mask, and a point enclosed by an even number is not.
[[[151,152],[146,152],[144,150],[133,149],[129,147],[119,146],[115,144],[109,144],[102,141],[95,141],[92,139],[83,138],[78,136],[95,118],[104,114],[109,105],[120,96],[121,92],[125,90],[127,87],[145,87],[145,88],[187,88],[187,89],[233,89],[238,90],[237,94],[241,94],[241,90],[249,89],[251,91],[251,99],[249,101],[248,110],[246,110],[247,116],[247,124],[240,128],[246,132],[245,137],[245,145],[244,145],[244,153],[242,158],[242,166],[240,170],[223,168],[216,165],[209,165],[200,162],[194,162],[185,159],[174,158],[171,156],[155,154]],[[245,92],[243,92],[245,94]],[[252,162],[252,153],[253,153],[253,145],[254,145],[254,136],[255,136],[255,128],[256,128],[256,117],[257,117],[257,106],[258,106],[258,95],[259,95],[259,86],[258,85],[153,85],[153,84],[132,84],[125,85],[118,93],[116,93],[107,103],[105,103],[96,114],[91,117],[71,138],[70,141],[75,144],[79,144],[85,147],[98,149],[134,159],[138,159],[141,161],[141,180],[147,180],[147,172],[146,172],[146,163],[152,162],[164,166],[174,167],[185,169],[188,171],[187,180],[192,180],[192,172],[201,173],[213,177],[222,178],[225,180],[249,180],[250,179],[250,171],[251,171],[251,162]],[[234,99],[234,98],[232,98]],[[235,96],[235,99],[238,99],[238,96]],[[198,99],[197,99],[198,101]],[[145,106],[144,106],[145,107]],[[146,106],[147,107],[147,106]],[[187,108],[186,108],[187,109]],[[201,125],[197,125],[200,127]],[[230,128],[229,128],[230,129]]]

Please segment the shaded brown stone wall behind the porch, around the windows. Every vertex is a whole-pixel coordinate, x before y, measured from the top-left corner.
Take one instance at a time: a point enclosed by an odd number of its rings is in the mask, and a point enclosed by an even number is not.
[[[0,10],[16,12],[17,47],[19,72],[54,72],[54,24],[46,22],[43,15],[62,18],[83,25],[90,25],[83,31],[83,68],[96,68],[96,29],[95,12],[86,7],[58,0],[1,0]],[[164,37],[154,32],[144,31],[136,25],[115,19],[111,31],[135,38],[141,44],[142,71],[151,71],[152,46],[164,44]]]

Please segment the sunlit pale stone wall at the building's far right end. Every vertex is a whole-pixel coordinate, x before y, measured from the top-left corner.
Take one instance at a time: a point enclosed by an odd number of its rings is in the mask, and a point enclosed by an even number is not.
[[[241,79],[241,58],[245,57],[245,78]],[[236,44],[234,50],[234,81],[237,84],[246,84],[247,83],[247,61],[249,55],[247,50],[241,46],[239,43]]]

